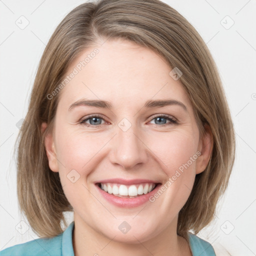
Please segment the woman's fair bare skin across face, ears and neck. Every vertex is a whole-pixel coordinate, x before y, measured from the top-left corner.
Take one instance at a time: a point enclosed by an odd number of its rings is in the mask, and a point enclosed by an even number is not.
[[[211,132],[207,129],[199,136],[191,102],[180,81],[169,75],[172,68],[162,57],[123,39],[96,47],[99,53],[62,88],[53,132],[44,141],[49,167],[59,172],[74,209],[74,253],[192,255],[185,239],[176,234],[177,214],[191,192],[195,174],[209,161]],[[67,74],[93,48],[84,50]],[[68,111],[73,102],[85,97],[107,100],[112,109],[77,106]],[[167,98],[181,101],[187,111],[179,105],[143,107],[149,99]],[[98,127],[89,119],[79,123],[89,114],[102,115],[103,119],[96,119]],[[161,114],[178,123],[165,117],[157,121],[155,117]],[[123,118],[131,124],[126,131],[118,126]],[[46,125],[42,124],[42,130]],[[106,201],[94,185],[99,179],[118,177],[164,184],[197,151],[200,156],[154,202],[118,207]],[[72,169],[80,175],[74,183],[67,178]],[[118,229],[122,221],[131,226],[125,234]]]

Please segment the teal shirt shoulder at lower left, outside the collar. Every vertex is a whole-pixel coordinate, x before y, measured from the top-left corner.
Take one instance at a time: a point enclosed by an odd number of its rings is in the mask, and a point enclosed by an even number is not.
[[[51,238],[37,238],[0,251],[0,256],[61,255],[62,233]]]

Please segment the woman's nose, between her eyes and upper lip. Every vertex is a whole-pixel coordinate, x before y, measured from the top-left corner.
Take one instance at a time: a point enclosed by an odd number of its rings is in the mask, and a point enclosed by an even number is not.
[[[117,127],[116,135],[112,141],[110,160],[124,169],[140,168],[141,164],[148,161],[148,147],[140,139],[138,131],[131,127],[123,131]]]

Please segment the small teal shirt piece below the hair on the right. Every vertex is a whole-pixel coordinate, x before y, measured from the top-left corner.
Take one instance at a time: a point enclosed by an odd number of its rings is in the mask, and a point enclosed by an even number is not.
[[[195,234],[188,232],[189,245],[193,256],[215,256],[212,245]]]

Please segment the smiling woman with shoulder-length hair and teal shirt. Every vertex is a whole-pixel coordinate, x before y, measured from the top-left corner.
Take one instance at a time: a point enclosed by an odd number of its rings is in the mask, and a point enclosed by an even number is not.
[[[167,4],[68,13],[19,135],[19,205],[41,238],[0,255],[215,255],[196,233],[227,187],[233,126],[207,47]]]

